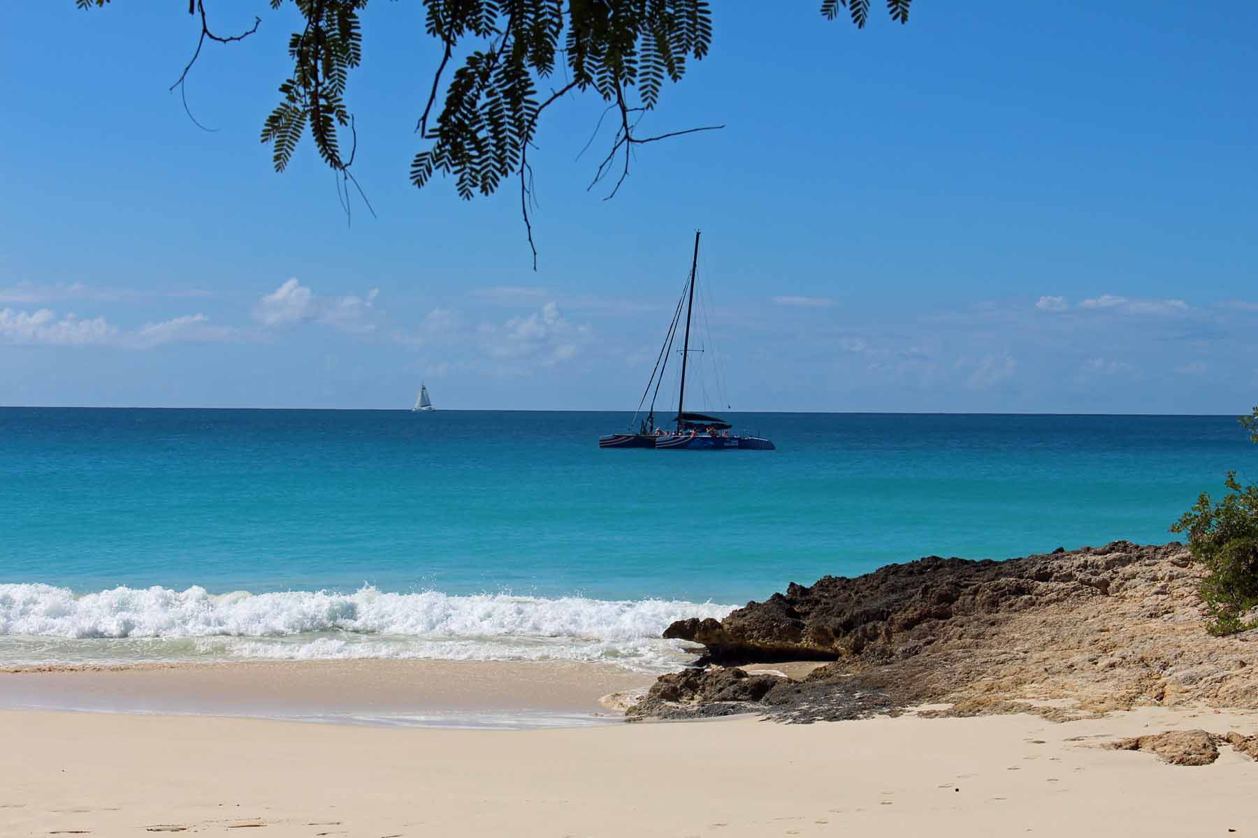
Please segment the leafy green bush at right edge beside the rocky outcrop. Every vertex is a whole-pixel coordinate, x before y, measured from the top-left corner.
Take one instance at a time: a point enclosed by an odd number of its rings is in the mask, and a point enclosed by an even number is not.
[[[1258,442],[1258,407],[1240,423]],[[1205,565],[1201,599],[1210,613],[1211,634],[1233,634],[1258,628],[1244,613],[1258,607],[1258,486],[1242,486],[1229,471],[1228,494],[1213,503],[1201,492],[1196,505],[1171,526],[1186,533],[1193,558]]]

